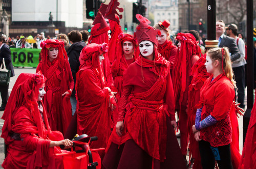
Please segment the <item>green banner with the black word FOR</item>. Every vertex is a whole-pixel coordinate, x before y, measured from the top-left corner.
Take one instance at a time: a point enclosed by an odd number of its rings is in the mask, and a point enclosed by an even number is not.
[[[41,49],[10,48],[14,67],[34,67],[39,63]]]

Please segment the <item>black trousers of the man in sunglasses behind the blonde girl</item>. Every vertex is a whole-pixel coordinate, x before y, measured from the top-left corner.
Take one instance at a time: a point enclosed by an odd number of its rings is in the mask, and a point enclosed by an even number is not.
[[[232,68],[234,72],[234,80],[237,82],[238,88],[238,103],[240,104],[241,108],[244,108],[244,97],[245,97],[245,66],[239,66],[237,68]]]

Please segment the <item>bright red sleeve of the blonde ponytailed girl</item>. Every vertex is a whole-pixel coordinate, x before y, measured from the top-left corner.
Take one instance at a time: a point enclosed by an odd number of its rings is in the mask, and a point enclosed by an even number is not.
[[[214,110],[210,113],[212,117],[220,121],[226,117],[234,99],[234,88],[226,83],[220,83],[215,89]]]

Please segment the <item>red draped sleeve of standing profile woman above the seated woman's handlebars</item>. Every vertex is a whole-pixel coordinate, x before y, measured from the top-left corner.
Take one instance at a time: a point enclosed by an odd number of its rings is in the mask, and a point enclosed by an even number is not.
[[[101,89],[99,78],[93,70],[87,69],[80,73],[77,96],[91,97],[92,102],[104,102],[110,95],[107,88]]]

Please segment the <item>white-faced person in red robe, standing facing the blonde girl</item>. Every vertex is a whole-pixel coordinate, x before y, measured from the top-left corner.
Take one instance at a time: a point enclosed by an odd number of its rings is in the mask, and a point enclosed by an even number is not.
[[[180,147],[186,161],[188,135],[187,135],[187,100],[188,86],[191,83],[191,68],[199,59],[201,49],[192,34],[179,33],[176,36],[179,41],[172,79],[174,81],[174,94],[176,110],[179,115]]]

